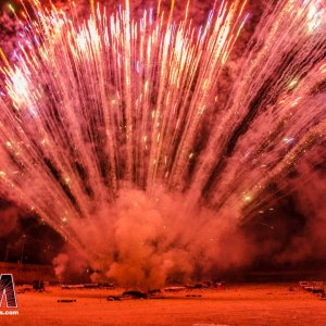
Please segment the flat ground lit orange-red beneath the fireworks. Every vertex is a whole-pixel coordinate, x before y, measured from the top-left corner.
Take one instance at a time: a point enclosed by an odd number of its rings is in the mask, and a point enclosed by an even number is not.
[[[326,300],[301,289],[289,291],[289,286],[294,285],[233,285],[123,301],[106,301],[121,290],[50,287],[42,293],[18,293],[20,315],[0,316],[0,325],[326,325]]]

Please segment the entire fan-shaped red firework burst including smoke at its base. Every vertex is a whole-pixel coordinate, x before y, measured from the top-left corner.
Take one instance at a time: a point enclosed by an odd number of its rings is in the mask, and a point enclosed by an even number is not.
[[[222,1],[200,28],[189,5],[178,23],[160,4],[139,21],[128,2],[112,15],[92,7],[83,24],[73,5],[35,8],[2,67],[2,195],[125,286],[243,263],[225,235],[272,209],[273,187],[325,140],[323,1],[269,9],[225,101],[246,1]]]

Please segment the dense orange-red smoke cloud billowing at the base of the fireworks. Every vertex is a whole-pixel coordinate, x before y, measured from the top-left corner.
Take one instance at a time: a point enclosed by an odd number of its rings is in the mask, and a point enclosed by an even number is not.
[[[92,279],[130,288],[210,278],[251,262],[251,243],[231,215],[189,210],[178,193],[123,190],[114,208],[74,230],[96,271]],[[67,256],[54,264],[63,272]]]

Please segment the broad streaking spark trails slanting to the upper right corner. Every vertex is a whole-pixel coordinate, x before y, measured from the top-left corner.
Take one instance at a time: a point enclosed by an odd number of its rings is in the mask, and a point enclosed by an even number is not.
[[[191,201],[196,189],[213,192],[211,204],[220,209],[233,208],[227,202],[240,193],[252,201],[325,137],[325,91],[313,91],[325,83],[325,4],[296,3],[280,1],[256,27],[256,43],[201,155]]]

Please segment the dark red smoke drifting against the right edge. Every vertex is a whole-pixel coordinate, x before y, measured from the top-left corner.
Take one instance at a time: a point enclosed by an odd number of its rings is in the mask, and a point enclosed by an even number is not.
[[[326,259],[326,153],[325,143],[311,151],[298,165],[298,177],[290,183],[298,210],[305,225],[280,254],[280,262]]]

